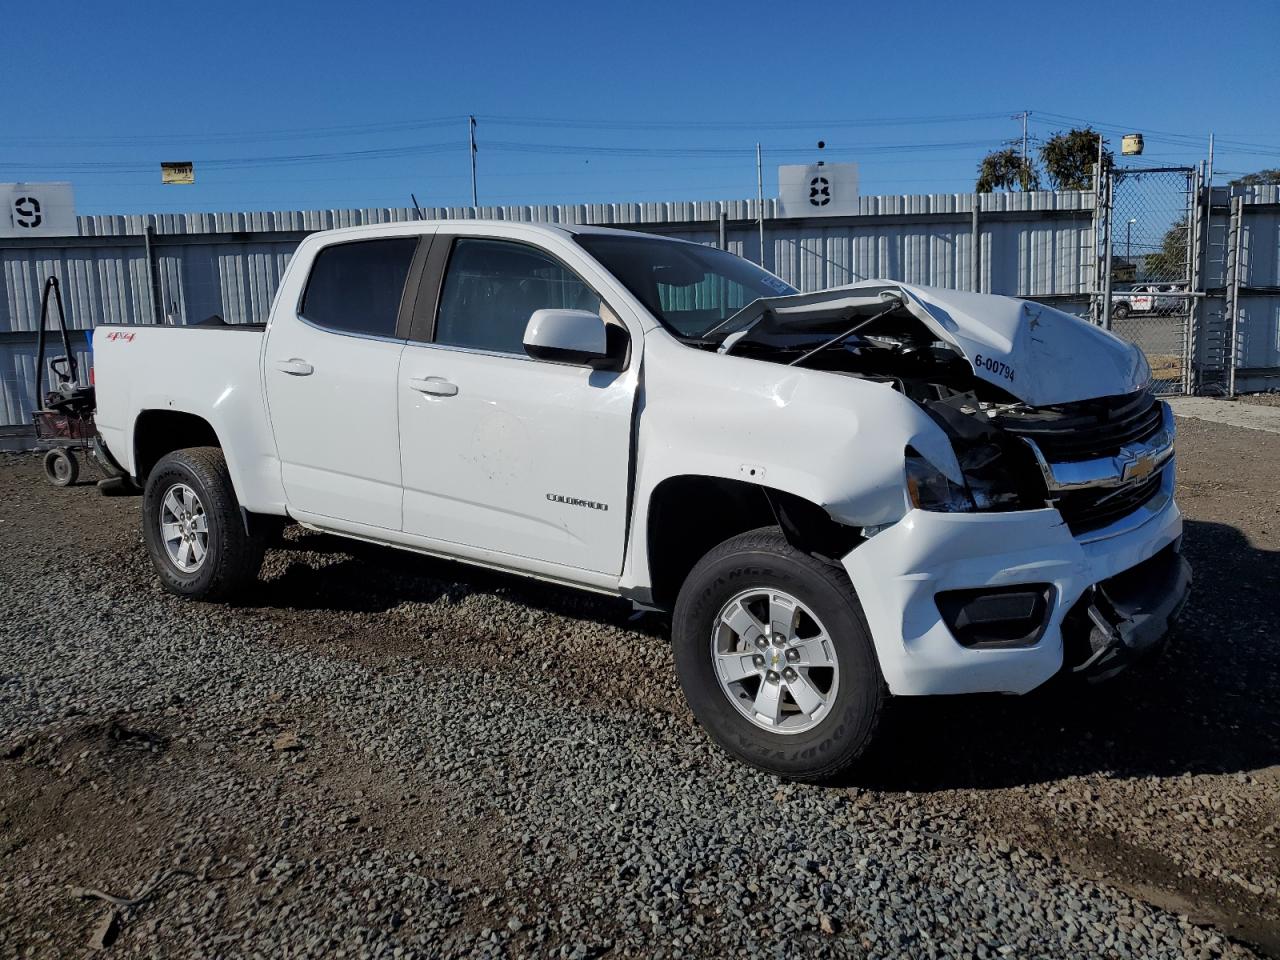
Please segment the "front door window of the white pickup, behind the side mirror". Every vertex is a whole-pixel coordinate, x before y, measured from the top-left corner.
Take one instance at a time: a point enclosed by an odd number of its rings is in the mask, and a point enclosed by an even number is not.
[[[440,292],[435,342],[525,352],[535,310],[600,312],[600,298],[549,253],[509,241],[458,239]]]

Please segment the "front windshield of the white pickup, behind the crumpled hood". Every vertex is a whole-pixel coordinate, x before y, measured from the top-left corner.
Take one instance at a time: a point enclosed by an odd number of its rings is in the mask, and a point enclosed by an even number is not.
[[[716,247],[607,233],[580,233],[575,239],[663,326],[685,339],[716,330],[751,301],[797,292],[755,264]]]

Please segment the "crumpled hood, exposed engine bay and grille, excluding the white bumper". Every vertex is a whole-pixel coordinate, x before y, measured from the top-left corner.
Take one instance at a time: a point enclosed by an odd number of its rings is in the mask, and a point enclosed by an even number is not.
[[[1147,389],[1142,353],[1042,305],[867,283],[756,301],[716,346],[915,402],[950,439],[961,476],[908,447],[906,508],[1055,507],[1089,538],[1171,495],[1172,417]]]

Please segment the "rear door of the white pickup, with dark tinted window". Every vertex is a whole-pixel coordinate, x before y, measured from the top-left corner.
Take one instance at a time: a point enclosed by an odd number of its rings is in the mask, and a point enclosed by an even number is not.
[[[417,236],[323,247],[301,298],[271,315],[266,401],[300,520],[401,529],[398,325],[417,247]]]

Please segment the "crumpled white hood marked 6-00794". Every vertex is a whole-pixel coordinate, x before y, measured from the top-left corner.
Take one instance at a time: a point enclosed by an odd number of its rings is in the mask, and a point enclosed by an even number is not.
[[[1151,380],[1147,358],[1132,343],[1061,310],[1014,297],[863,280],[756,303],[782,315],[803,315],[844,300],[895,292],[905,294],[908,308],[965,356],[977,376],[1033,407],[1116,397],[1140,390]]]

